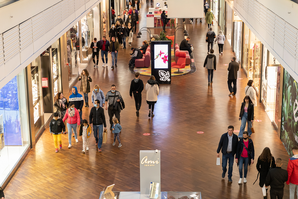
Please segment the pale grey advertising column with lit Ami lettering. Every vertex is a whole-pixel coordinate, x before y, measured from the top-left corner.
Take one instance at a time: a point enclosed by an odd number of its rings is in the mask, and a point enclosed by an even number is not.
[[[160,151],[140,151],[141,194],[150,194],[150,183],[159,183],[160,195]]]

